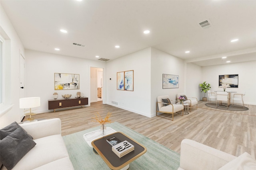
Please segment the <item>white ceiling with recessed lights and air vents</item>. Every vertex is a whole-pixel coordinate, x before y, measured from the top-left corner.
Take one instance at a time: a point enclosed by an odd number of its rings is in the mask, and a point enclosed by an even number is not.
[[[154,47],[200,66],[256,60],[256,0],[0,3],[25,49],[91,60],[98,60],[98,55],[113,60]],[[210,20],[211,27],[200,27],[199,23],[205,20]],[[60,29],[68,33],[61,33]],[[150,33],[144,34],[147,29]],[[231,43],[232,39],[239,40]],[[223,56],[227,58],[221,59]]]

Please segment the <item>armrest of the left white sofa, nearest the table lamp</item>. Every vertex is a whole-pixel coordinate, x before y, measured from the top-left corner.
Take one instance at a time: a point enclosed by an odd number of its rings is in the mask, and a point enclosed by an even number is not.
[[[61,134],[59,118],[20,124],[34,139]]]

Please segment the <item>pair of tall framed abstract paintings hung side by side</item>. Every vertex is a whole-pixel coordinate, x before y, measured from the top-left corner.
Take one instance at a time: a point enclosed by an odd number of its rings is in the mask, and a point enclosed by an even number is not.
[[[133,91],[133,70],[117,72],[117,90]]]

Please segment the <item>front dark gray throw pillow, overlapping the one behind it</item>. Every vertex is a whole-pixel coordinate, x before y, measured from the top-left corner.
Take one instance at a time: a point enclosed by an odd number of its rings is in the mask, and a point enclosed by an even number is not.
[[[36,143],[21,127],[0,141],[0,160],[11,170]]]

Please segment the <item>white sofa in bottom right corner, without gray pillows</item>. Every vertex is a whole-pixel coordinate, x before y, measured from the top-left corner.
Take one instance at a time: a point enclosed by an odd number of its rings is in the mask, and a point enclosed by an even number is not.
[[[256,160],[247,152],[236,157],[184,139],[181,142],[178,170],[256,170]]]

